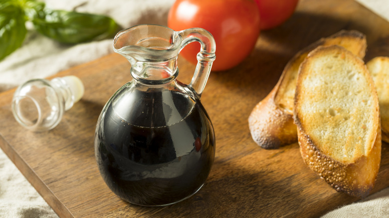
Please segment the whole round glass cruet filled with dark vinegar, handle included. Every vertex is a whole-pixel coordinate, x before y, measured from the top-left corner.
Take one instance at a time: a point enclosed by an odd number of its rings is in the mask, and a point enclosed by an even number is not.
[[[201,49],[189,85],[176,80],[178,54]],[[204,184],[215,155],[212,123],[199,98],[215,59],[212,35],[201,28],[174,31],[143,24],[120,31],[114,51],[131,63],[132,80],[104,106],[95,156],[107,186],[136,205],[166,206]]]

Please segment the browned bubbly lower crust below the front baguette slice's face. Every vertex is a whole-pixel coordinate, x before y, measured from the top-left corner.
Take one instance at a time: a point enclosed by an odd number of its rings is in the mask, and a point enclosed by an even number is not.
[[[301,128],[298,128],[298,142],[304,163],[337,192],[344,192],[363,199],[374,188],[381,162],[380,130],[377,130],[376,140],[369,152],[369,157],[361,156],[355,163],[342,163],[323,154]],[[373,156],[376,158],[370,158]],[[361,169],[364,169],[363,173]],[[371,175],[365,178],[367,174]]]

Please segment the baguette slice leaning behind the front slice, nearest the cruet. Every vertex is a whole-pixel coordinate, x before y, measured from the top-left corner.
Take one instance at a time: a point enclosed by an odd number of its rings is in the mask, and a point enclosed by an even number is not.
[[[342,30],[309,45],[287,63],[277,85],[254,107],[248,117],[251,136],[262,148],[274,149],[297,142],[297,128],[293,123],[293,98],[298,68],[308,53],[319,45],[341,45],[364,58],[367,42],[366,36],[361,32]]]

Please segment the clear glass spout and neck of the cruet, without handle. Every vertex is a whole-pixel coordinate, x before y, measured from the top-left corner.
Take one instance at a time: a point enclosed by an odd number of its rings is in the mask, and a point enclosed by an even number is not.
[[[136,25],[116,34],[113,49],[131,64],[135,79],[165,80],[177,72],[182,39],[174,30],[160,25]]]

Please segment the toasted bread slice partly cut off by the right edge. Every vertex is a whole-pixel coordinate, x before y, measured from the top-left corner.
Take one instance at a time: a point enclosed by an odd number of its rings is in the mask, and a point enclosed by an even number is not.
[[[376,57],[366,65],[377,89],[380,104],[382,139],[389,143],[389,57]]]

